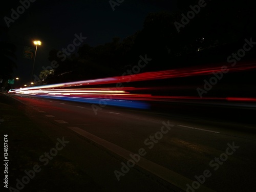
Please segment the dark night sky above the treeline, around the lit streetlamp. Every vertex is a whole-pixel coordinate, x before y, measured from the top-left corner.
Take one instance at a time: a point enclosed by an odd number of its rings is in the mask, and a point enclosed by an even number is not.
[[[31,78],[33,60],[22,58],[22,53],[24,45],[33,47],[34,39],[42,42],[37,50],[34,70],[34,74],[39,75],[42,66],[50,65],[47,59],[49,51],[67,48],[73,42],[74,34],[82,33],[87,37],[84,44],[94,47],[111,42],[113,37],[122,40],[141,30],[150,12],[177,11],[177,3],[172,0],[125,0],[115,7],[115,11],[109,0],[36,0],[30,4],[14,23],[10,23],[9,28],[4,16],[11,18],[11,9],[16,10],[20,3],[8,1],[1,8],[1,27],[7,29],[1,40],[14,42],[17,46],[18,69],[13,76],[19,77],[20,83],[26,83]]]

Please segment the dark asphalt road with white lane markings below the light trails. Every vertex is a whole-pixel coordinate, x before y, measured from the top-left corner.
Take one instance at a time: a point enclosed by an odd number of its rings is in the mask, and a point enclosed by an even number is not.
[[[169,112],[105,106],[96,114],[92,104],[6,95],[49,138],[67,138],[65,156],[105,191],[256,190],[255,123],[215,118],[224,106],[208,116],[172,104]]]

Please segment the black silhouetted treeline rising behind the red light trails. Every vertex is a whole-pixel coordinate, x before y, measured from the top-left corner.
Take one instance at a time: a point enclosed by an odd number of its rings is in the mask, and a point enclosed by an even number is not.
[[[179,11],[148,14],[143,29],[122,40],[114,37],[112,42],[96,47],[84,44],[63,61],[57,57],[59,50],[51,50],[48,59],[56,60],[58,67],[42,71],[40,77],[45,83],[55,83],[119,76],[138,65],[139,56],[145,54],[152,61],[140,73],[226,62],[230,54],[243,48],[245,38],[256,41],[251,1],[206,0],[186,24],[182,14],[187,16],[191,6],[198,7],[201,1],[178,2]],[[175,22],[182,27],[177,29]],[[241,61],[252,59],[254,54],[255,49],[251,49]],[[2,74],[6,70],[2,67]]]

